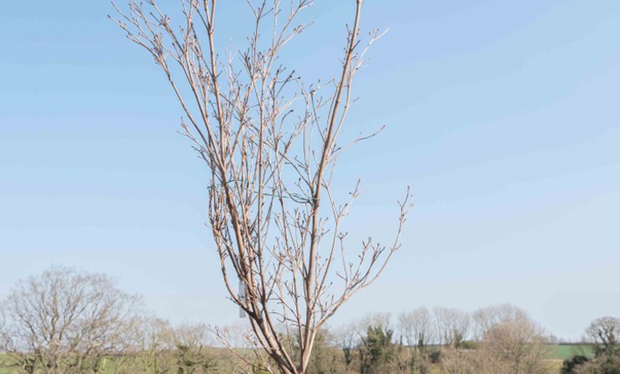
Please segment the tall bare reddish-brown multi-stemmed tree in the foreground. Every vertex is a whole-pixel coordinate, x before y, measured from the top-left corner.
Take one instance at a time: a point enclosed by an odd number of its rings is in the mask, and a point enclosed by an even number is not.
[[[337,201],[331,183],[348,148],[337,140],[354,101],[353,76],[381,35],[375,31],[361,44],[362,0],[352,0],[339,76],[307,86],[279,56],[306,29],[296,18],[312,1],[292,0],[287,9],[279,0],[248,1],[249,45],[225,60],[215,43],[222,40],[216,2],[180,0],[177,22],[155,0],[130,0],[126,12],[115,7],[118,26],[164,71],[185,114],[182,133],[210,170],[209,222],[229,298],[278,370],[304,373],[321,326],[399,248],[410,208],[407,193],[390,244],[368,238],[349,253],[342,223],[358,185],[349,201]],[[279,323],[289,338],[279,334]],[[272,371],[268,362],[259,366]]]

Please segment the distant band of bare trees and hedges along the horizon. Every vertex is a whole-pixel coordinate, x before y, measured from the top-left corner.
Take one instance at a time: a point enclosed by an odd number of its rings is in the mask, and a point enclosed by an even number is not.
[[[281,325],[292,352],[298,337]],[[620,373],[620,320],[557,344],[514,305],[368,315],[316,338],[306,373]],[[216,341],[213,336],[219,337]],[[224,337],[224,338],[222,338]],[[103,274],[53,267],[0,302],[0,374],[267,373],[247,326],[173,326]],[[4,371],[3,371],[4,370]]]

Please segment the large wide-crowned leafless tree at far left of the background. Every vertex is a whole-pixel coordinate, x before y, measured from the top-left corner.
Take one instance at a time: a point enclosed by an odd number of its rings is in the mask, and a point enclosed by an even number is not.
[[[118,353],[139,298],[101,274],[51,268],[20,281],[2,302],[2,347],[33,373],[85,373]]]

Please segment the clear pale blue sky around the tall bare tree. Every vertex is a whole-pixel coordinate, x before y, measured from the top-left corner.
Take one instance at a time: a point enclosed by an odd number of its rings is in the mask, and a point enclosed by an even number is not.
[[[353,3],[317,0],[288,65],[333,76]],[[220,8],[223,51],[249,29],[244,1]],[[56,263],[117,276],[175,322],[234,323],[205,166],[176,133],[165,77],[112,11],[2,5],[0,297]],[[415,208],[383,278],[332,325],[510,302],[577,339],[620,316],[620,1],[367,0],[362,27],[390,31],[358,74],[343,135],[387,128],[340,163],[342,188],[361,178],[364,191],[349,225],[390,238],[407,185]]]

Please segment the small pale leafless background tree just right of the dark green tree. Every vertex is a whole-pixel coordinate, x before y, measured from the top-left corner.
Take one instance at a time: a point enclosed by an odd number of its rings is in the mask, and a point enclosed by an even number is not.
[[[420,307],[398,315],[401,338],[409,347],[424,348],[435,343],[435,328],[430,312]]]

